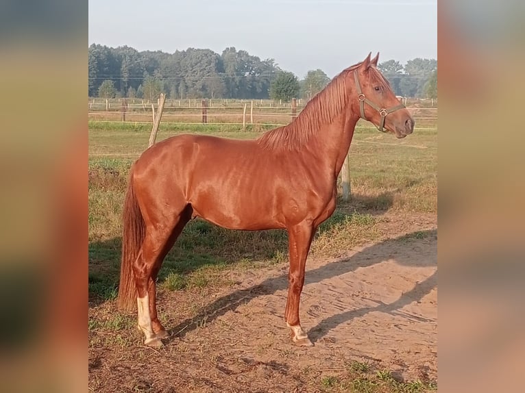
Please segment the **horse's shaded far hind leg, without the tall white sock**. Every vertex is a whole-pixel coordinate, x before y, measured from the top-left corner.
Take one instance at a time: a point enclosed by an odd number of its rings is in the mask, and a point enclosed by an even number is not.
[[[184,226],[188,223],[190,219],[191,219],[191,207],[188,206],[186,207],[186,210],[184,210],[184,212],[182,212],[182,214],[178,218],[178,222],[175,225],[175,228],[171,232],[171,235],[169,236],[166,244],[164,244],[164,249],[162,250],[162,253],[159,255],[157,259],[157,263],[151,270],[151,276],[149,277],[147,294],[149,297],[149,316],[151,317],[151,328],[153,329],[153,332],[156,338],[166,338],[169,336],[169,333],[166,331],[166,329],[164,329],[164,327],[158,320],[158,316],[157,316],[156,279],[158,276],[158,272],[160,270],[160,266],[162,266],[162,261],[166,257],[167,253],[169,253],[169,251],[171,250],[171,247],[173,247],[173,244],[175,243],[175,240],[177,240],[180,233],[182,232],[182,229],[184,229]]]

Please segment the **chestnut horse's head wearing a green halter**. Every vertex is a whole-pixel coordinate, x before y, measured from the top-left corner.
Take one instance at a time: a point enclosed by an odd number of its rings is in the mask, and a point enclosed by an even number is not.
[[[361,118],[374,123],[379,131],[404,138],[414,131],[414,119],[378,70],[379,53],[373,59],[370,55],[348,75],[355,84],[355,103]]]

